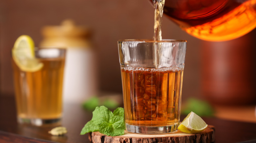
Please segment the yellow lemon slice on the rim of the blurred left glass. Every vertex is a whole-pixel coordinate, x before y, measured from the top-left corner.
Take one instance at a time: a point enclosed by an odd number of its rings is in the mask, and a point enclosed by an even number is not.
[[[28,35],[21,35],[12,48],[12,58],[21,71],[35,72],[43,68],[43,63],[35,58],[34,41]]]

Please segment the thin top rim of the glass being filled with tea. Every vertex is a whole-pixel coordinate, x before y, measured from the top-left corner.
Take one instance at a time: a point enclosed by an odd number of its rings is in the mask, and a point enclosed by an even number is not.
[[[138,43],[171,43],[171,42],[184,42],[186,43],[186,40],[173,40],[173,39],[163,39],[163,40],[152,40],[152,39],[126,39],[126,40],[118,40],[119,42],[138,42]]]

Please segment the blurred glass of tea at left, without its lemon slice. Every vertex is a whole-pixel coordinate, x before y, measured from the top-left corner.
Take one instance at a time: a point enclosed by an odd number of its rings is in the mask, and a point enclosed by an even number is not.
[[[62,116],[62,84],[65,49],[35,48],[36,59],[43,67],[34,72],[22,71],[13,62],[17,120],[41,126],[57,123]]]

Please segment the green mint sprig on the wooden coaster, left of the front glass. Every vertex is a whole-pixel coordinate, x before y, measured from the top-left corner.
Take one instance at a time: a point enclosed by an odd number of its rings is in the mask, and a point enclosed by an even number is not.
[[[124,109],[118,107],[113,113],[105,106],[96,107],[93,118],[87,122],[80,135],[99,131],[104,135],[123,135],[125,130]]]

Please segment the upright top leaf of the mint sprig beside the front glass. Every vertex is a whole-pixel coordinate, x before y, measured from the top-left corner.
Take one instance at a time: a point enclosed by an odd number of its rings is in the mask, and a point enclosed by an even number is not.
[[[93,111],[93,122],[95,125],[100,125],[103,122],[109,122],[113,113],[105,106],[96,107]]]

